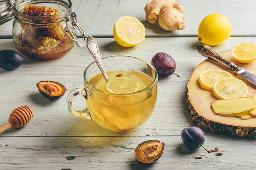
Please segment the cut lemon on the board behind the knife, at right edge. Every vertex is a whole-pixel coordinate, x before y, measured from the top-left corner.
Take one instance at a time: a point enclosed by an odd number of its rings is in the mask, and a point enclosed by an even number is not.
[[[241,63],[250,63],[256,59],[256,44],[243,42],[232,49],[232,55]]]

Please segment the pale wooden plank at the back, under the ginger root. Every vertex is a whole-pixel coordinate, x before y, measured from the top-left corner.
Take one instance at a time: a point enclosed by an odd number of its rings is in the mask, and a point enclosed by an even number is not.
[[[73,11],[85,28],[86,34],[112,36],[115,21],[122,16],[137,17],[146,27],[147,36],[195,36],[200,21],[211,13],[227,16],[232,23],[232,34],[255,36],[256,17],[254,0],[177,0],[184,6],[186,28],[167,32],[145,19],[144,6],[149,0],[72,0]],[[12,34],[12,21],[0,26],[1,35]]]

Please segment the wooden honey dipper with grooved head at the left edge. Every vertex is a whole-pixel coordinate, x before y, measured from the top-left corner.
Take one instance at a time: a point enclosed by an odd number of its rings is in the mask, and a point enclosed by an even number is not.
[[[12,111],[9,116],[9,122],[0,127],[0,134],[4,131],[13,128],[22,128],[33,117],[33,110],[29,106],[21,106]]]

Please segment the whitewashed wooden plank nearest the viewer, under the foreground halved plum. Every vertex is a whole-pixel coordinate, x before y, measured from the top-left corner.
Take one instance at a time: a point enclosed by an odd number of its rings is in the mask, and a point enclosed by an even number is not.
[[[165,143],[162,157],[152,165],[134,159],[136,146],[145,140]],[[19,141],[19,142],[17,142]],[[205,147],[224,150],[223,155],[202,148],[188,150],[180,136],[158,137],[0,137],[2,170],[237,170],[256,168],[254,140],[207,136]],[[239,153],[238,153],[239,151]],[[75,159],[68,161],[67,156]]]

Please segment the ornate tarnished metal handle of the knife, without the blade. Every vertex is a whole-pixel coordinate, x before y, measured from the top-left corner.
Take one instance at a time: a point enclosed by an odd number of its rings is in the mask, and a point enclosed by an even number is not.
[[[214,51],[211,46],[205,44],[197,44],[195,45],[195,48],[201,55],[211,58],[237,73],[239,68],[235,65],[235,63],[223,58],[220,54]]]

